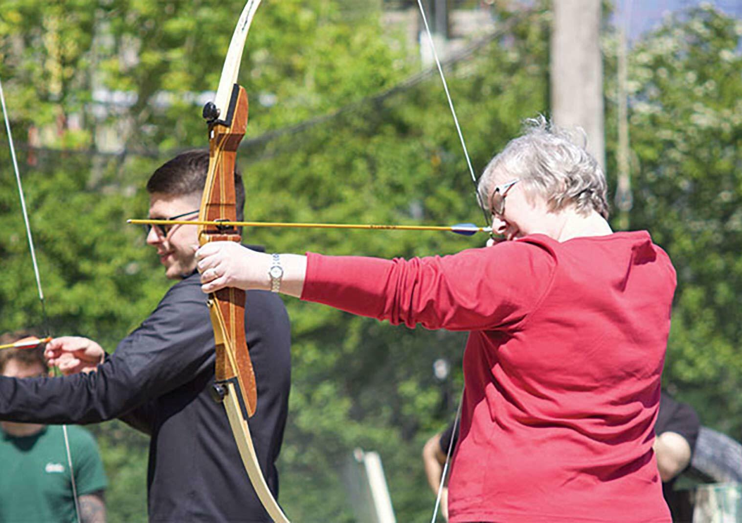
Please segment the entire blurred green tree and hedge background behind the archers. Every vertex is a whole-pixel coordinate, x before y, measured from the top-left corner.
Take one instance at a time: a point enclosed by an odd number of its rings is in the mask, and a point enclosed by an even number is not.
[[[450,60],[447,78],[474,168],[548,114],[548,1],[509,11]],[[19,151],[54,335],[109,351],[171,282],[128,217],[179,151],[206,145],[200,106],[216,88],[242,0],[6,0],[0,80]],[[240,68],[250,96],[238,162],[251,220],[482,222],[440,80],[421,68],[381,4],[266,0]],[[617,39],[605,27],[608,179],[615,186]],[[742,25],[697,8],[634,42],[629,106],[634,208],[677,269],[666,386],[703,424],[742,433]],[[3,139],[5,139],[3,137]],[[111,145],[113,144],[113,145]],[[19,198],[0,147],[0,330],[41,326]],[[395,231],[246,231],[271,251],[410,257],[482,238]],[[462,275],[465,277],[465,275]],[[293,381],[280,499],[299,522],[352,522],[344,470],[355,447],[384,461],[398,521],[430,518],[420,453],[453,418],[462,335],[390,327],[287,300]],[[444,381],[432,365],[452,366]],[[147,439],[93,427],[111,522],[143,521]]]

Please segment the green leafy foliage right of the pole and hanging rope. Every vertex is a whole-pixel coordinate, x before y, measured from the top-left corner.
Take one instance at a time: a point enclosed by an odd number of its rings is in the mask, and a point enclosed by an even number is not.
[[[677,13],[629,57],[634,208],[677,270],[664,381],[742,434],[742,23]]]

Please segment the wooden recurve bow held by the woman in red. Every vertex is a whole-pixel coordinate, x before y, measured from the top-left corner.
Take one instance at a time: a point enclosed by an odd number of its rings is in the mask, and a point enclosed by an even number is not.
[[[247,127],[247,94],[237,85],[245,39],[260,0],[248,0],[243,8],[222,69],[214,102],[203,108],[209,125],[209,174],[203,190],[199,221],[237,219],[234,194],[234,160]],[[198,228],[199,243],[240,242],[234,226]],[[247,419],[257,408],[255,373],[245,340],[245,292],[226,288],[209,295],[209,314],[214,326],[216,368],[214,398],[224,405],[237,448],[255,493],[276,523],[289,523],[263,478]]]

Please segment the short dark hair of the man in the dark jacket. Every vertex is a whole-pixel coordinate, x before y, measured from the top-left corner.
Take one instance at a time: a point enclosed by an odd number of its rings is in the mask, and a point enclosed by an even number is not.
[[[147,182],[149,194],[188,196],[203,193],[206,175],[209,174],[209,151],[197,149],[178,154],[154,171]],[[245,186],[237,165],[234,165],[234,197],[237,203],[237,221],[242,221],[245,211]]]

